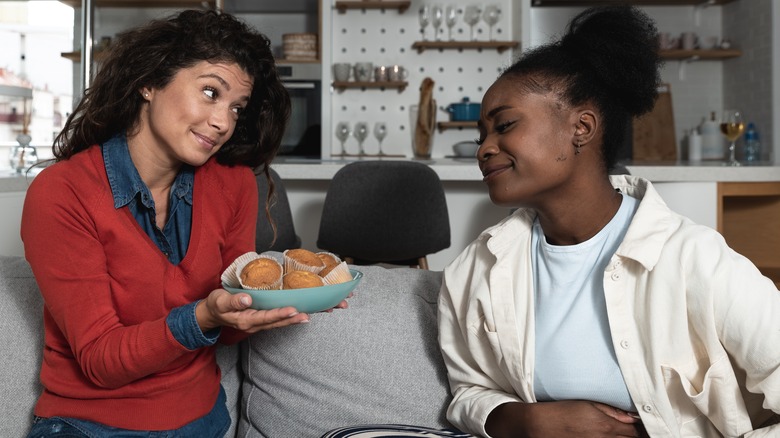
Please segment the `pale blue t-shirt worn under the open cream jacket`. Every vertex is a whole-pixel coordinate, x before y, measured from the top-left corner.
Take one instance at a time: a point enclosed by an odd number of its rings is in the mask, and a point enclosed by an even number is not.
[[[534,223],[537,400],[591,400],[636,411],[612,345],[603,275],[638,206],[623,195],[612,220],[577,245],[550,245]]]

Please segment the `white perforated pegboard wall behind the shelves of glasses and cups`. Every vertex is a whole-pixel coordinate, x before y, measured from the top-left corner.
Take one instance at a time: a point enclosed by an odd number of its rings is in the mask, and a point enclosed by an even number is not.
[[[332,1],[335,3],[335,0]],[[498,0],[478,2],[483,8],[496,4],[501,9],[499,22],[493,27],[495,40],[512,40],[512,1]],[[418,11],[424,4],[448,5],[458,9],[457,23],[452,36],[456,41],[470,38],[469,26],[463,21],[463,10],[467,3],[435,2],[416,0],[400,13],[397,9],[348,9],[340,13],[331,10],[330,62],[372,62],[377,65],[402,65],[409,71],[406,89],[344,89],[330,90],[330,133],[325,134],[324,145],[332,145],[330,153],[339,153],[340,142],[335,137],[335,126],[341,121],[368,122],[371,127],[378,121],[388,126],[388,135],[383,142],[385,153],[412,155],[409,107],[419,100],[419,88],[423,79],[430,77],[435,82],[433,97],[439,110],[438,121],[450,120],[445,108],[450,103],[469,97],[473,102],[482,99],[485,90],[512,60],[512,50],[499,53],[495,49],[433,49],[422,53],[412,48],[415,41],[422,39]],[[477,2],[475,2],[477,4]],[[334,5],[331,5],[333,8]],[[439,35],[447,40],[447,27],[442,24]],[[434,37],[433,28],[428,25],[426,39]],[[475,39],[488,40],[488,26],[480,20],[475,26]],[[324,68],[330,69],[331,66]],[[329,85],[329,84],[328,84]],[[476,129],[446,130],[434,136],[433,157],[452,154],[452,144],[474,139]],[[348,153],[357,153],[358,142],[351,137],[346,142]],[[366,153],[376,153],[378,142],[370,136],[364,142]],[[328,154],[328,151],[325,152]]]

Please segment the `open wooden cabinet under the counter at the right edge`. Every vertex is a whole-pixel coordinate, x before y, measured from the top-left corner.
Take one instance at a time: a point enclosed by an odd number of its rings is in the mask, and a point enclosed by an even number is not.
[[[717,229],[780,287],[780,182],[718,183]]]

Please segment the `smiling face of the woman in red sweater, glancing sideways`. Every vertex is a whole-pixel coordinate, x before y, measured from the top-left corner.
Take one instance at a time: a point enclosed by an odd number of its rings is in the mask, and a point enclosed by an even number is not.
[[[201,61],[164,88],[140,91],[148,105],[128,139],[131,150],[138,146],[164,166],[200,166],[233,135],[252,78],[237,64]]]

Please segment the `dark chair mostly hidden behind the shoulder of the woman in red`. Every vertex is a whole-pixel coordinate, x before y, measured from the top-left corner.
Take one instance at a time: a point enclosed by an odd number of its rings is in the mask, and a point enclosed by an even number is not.
[[[257,235],[255,237],[255,251],[284,251],[286,249],[300,248],[301,238],[295,233],[290,201],[287,199],[287,190],[284,183],[275,170],[268,168],[271,179],[274,182],[274,195],[271,199],[271,218],[276,224],[276,240],[274,230],[265,215],[265,204],[268,198],[268,180],[265,173],[259,173],[257,179],[257,192],[260,200],[260,208],[257,213]]]

